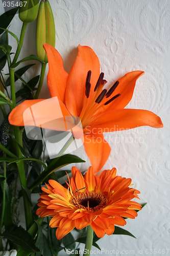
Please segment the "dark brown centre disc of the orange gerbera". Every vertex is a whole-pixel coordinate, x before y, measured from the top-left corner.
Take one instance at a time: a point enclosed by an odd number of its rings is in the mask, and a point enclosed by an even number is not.
[[[74,204],[77,208],[96,211],[103,208],[107,203],[107,198],[100,193],[94,191],[74,193],[70,199],[70,203]]]

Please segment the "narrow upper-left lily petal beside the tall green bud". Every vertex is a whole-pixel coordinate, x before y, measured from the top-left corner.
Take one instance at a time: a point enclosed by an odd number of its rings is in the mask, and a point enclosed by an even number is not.
[[[65,88],[68,73],[64,70],[59,52],[51,45],[43,45],[48,58],[47,84],[51,97],[57,96],[65,103]]]

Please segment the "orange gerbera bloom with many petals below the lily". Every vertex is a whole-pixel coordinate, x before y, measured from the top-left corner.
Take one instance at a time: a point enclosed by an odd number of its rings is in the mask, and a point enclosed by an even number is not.
[[[99,176],[89,167],[83,177],[77,167],[71,169],[72,178],[68,177],[68,189],[55,180],[42,187],[43,193],[38,200],[36,214],[40,217],[53,217],[50,226],[58,227],[57,239],[62,239],[75,227],[82,229],[88,225],[99,238],[105,233],[114,232],[114,225],[124,226],[123,217],[134,219],[135,210],[141,205],[131,201],[138,198],[140,192],[129,188],[131,179],[116,176],[116,169],[104,170]],[[139,198],[138,198],[139,199]]]

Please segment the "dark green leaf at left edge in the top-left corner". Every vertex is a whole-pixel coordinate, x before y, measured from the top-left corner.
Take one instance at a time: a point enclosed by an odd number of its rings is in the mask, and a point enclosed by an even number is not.
[[[0,16],[0,24],[1,24],[1,27],[6,29],[10,23],[11,23],[11,20],[13,19],[13,17],[15,16],[16,12],[18,10],[18,7],[16,8],[13,8],[5,13],[3,13],[1,16]],[[4,31],[1,29],[0,30],[0,34],[2,34]]]

